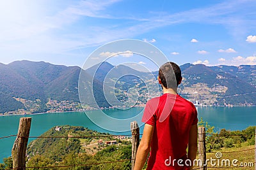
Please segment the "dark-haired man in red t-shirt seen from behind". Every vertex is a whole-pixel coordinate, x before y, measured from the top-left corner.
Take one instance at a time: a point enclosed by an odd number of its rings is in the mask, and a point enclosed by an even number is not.
[[[134,170],[143,168],[149,151],[148,170],[192,169],[197,152],[198,118],[193,103],[177,94],[182,81],[180,67],[166,62],[160,67],[157,80],[163,96],[146,104],[142,118],[145,127]]]

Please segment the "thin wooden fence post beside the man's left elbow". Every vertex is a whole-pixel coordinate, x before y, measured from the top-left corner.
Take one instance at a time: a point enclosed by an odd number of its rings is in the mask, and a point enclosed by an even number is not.
[[[134,168],[136,153],[140,145],[140,127],[136,121],[131,122],[132,132],[132,169]]]

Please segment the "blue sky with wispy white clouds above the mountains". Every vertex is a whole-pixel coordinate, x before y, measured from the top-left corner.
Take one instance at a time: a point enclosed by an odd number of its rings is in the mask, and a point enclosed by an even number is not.
[[[256,65],[255,9],[255,0],[1,1],[0,62],[83,66],[99,46],[140,39],[179,65]]]

